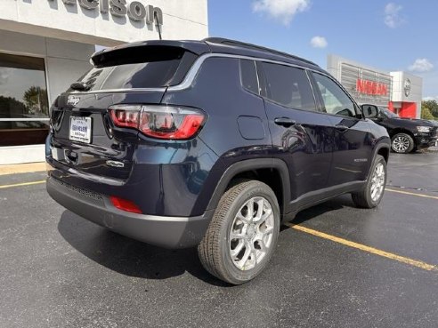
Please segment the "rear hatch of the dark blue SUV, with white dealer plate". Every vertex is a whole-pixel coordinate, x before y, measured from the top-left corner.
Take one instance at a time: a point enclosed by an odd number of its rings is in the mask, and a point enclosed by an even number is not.
[[[142,132],[142,108],[161,108],[166,87],[183,81],[204,47],[193,52],[183,42],[148,42],[94,54],[94,68],[53,104],[53,159],[92,180],[123,183]]]

